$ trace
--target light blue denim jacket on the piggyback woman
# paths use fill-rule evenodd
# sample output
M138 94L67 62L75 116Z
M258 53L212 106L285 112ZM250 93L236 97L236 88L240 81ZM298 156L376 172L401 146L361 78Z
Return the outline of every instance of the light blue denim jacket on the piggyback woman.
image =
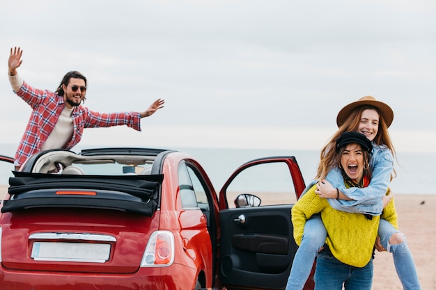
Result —
M372 216L379 216L383 211L382 197L387 193L389 184L391 182L391 172L394 169L394 157L391 150L386 146L379 146L373 143L373 153L371 158L370 168L372 170L371 182L366 188L346 188L341 170L334 168L327 174L328 182L333 187L338 188L348 198L353 200L336 200L329 198L329 204L339 211L346 211L349 213L357 214L371 214ZM313 180L306 189L311 188L316 184L317 180Z

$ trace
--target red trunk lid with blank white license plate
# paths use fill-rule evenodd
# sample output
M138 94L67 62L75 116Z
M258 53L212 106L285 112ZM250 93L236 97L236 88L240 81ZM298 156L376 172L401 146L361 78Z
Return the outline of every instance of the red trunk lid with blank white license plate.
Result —
M2 264L15 270L134 273L158 228L158 214L68 208L6 213Z

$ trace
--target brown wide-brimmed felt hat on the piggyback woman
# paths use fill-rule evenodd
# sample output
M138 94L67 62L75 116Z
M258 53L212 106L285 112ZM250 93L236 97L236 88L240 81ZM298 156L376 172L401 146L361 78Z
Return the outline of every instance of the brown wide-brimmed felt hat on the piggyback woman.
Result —
M384 122L386 122L387 127L391 126L392 121L394 120L394 111L392 111L391 107L383 102L377 101L375 97L365 96L361 97L356 102L352 102L347 106L344 106L341 111L339 111L338 116L336 117L336 124L338 127L341 127L343 122L347 120L348 116L351 114L355 108L359 106L369 105L373 106L380 111L383 116Z

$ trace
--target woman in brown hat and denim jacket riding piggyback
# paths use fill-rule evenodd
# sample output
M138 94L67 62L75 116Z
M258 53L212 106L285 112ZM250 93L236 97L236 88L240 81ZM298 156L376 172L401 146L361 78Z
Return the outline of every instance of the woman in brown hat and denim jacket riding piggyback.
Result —
M320 198L327 198L335 209L379 216L392 196L389 194L389 184L391 175L395 172L395 150L387 129L393 120L394 112L392 109L371 96L362 97L357 102L344 106L336 118L338 131L322 148L316 179L306 187L304 192L316 184L315 193ZM326 159L332 160L331 157L335 154L336 139L347 131L360 132L372 141L372 159L369 164L372 179L366 188L346 188L343 184L341 168L336 168L334 164L325 162ZM388 250L392 253L403 288L405 290L421 289L405 235L387 220L382 219L380 220L378 236L375 247L379 251ZM325 239L326 232L322 220L319 216L313 216L306 222L302 243L295 255L286 290L303 289L311 272L311 261L315 259L325 243Z

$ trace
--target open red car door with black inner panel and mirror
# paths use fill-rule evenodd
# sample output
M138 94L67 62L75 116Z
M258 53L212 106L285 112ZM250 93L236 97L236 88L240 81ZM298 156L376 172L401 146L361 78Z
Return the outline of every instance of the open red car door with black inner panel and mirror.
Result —
M293 156L249 161L224 184L219 276L228 290L286 287L297 251L290 214L304 187Z

